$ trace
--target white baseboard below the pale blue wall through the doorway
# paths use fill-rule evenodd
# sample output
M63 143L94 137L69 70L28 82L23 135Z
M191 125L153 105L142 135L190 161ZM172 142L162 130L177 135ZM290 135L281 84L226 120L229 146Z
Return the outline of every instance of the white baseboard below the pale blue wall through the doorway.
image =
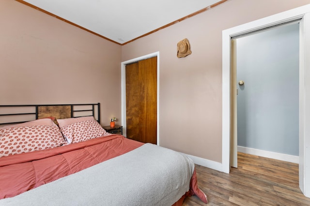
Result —
M243 152L243 153L251 154L251 155L257 155L257 156L266 157L266 158L272 158L272 159L286 161L286 162L293 162L297 164L299 163L299 156L294 156L294 155L281 154L277 152L270 152L270 151L264 151L260 149L241 147L241 146L238 146L238 152Z

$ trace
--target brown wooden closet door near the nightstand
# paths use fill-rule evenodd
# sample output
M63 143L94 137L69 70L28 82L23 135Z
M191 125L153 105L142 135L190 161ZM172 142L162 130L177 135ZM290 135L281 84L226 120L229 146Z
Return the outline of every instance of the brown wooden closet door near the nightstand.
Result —
M125 70L127 138L157 144L157 57Z

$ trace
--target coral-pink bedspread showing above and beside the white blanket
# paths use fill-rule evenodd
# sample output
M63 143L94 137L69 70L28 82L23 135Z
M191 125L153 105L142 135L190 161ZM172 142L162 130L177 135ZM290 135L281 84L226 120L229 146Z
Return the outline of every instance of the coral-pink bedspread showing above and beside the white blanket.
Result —
M14 197L127 153L141 145L143 143L112 134L72 145L2 157L0 199ZM207 203L204 193L197 187L196 171L191 180L190 191L185 196L193 194ZM184 197L178 203L183 202Z

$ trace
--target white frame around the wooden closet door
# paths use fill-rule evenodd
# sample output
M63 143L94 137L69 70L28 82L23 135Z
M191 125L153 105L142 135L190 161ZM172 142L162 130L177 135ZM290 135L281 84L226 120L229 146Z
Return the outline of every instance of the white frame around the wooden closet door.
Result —
M123 125L123 135L127 136L127 124L126 124L126 75L125 68L126 64L131 64L143 59L149 59L152 57L157 57L157 145L159 145L159 51L151 54L147 54L135 59L130 59L121 62L121 88L122 88L122 125Z

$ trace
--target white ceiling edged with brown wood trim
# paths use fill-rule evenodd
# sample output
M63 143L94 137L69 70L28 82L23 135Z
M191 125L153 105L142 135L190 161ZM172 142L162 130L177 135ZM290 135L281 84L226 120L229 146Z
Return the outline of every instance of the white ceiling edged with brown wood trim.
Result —
M125 44L223 0L23 1L118 44Z

